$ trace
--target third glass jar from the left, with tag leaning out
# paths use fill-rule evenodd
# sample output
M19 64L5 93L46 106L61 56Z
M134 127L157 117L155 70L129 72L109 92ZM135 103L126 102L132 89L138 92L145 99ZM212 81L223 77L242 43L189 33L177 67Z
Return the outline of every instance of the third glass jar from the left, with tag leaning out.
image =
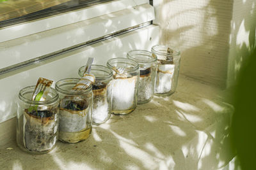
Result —
M80 67L78 74L83 77L85 66ZM106 66L92 65L91 72L95 76L95 83L92 85L93 110L92 124L103 124L111 115L111 80L113 80L112 70Z

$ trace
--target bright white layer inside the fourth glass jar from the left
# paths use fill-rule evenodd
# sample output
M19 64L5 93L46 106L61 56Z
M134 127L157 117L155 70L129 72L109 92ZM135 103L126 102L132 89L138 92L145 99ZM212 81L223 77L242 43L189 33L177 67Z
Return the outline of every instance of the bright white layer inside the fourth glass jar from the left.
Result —
M112 110L129 110L134 106L134 91L136 76L132 78L113 80L113 108Z

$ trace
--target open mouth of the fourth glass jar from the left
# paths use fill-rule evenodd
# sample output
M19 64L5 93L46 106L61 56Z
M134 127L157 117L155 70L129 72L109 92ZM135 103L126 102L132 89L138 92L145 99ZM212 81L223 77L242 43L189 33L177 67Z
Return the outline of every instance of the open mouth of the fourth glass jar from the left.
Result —
M109 59L107 62L107 66L110 68L116 67L115 65L117 64L124 64L122 68L124 68L126 72L133 72L139 69L138 62L127 58L113 58ZM126 66L127 64L131 65L132 67Z

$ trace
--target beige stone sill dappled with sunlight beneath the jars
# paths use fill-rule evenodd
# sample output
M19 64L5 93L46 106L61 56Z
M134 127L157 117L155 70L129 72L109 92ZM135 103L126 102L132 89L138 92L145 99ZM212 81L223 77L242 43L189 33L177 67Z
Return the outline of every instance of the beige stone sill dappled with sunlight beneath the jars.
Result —
M93 126L86 141L43 155L0 145L1 169L222 169L230 152L232 106L223 91L180 76L177 92ZM3 140L3 139L2 139Z

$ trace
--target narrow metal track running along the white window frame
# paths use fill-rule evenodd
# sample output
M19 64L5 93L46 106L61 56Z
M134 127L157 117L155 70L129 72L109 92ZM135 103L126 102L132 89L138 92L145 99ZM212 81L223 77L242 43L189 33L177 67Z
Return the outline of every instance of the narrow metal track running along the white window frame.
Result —
M104 40L107 40L107 39L110 39L110 38L113 38L113 37L116 37L116 36L120 36L120 35L125 34L127 32L131 32L131 31L135 31L137 29L143 28L143 27L147 27L148 25L151 25L151 24L152 24L152 21L145 22L143 24L136 25L134 27L129 27L127 29L117 31L117 32L114 32L112 34L102 36L100 38L95 38L95 39L92 39L90 41L80 43L78 45L70 46L69 48L65 48L65 49L62 49L62 50L58 50L56 52L48 53L46 55L42 55L42 56L36 57L34 59L26 60L24 62L20 62L19 64L14 64L12 66L4 67L4 68L0 69L0 76L4 75L6 73L10 73L12 71L17 71L17 70L22 69L24 67L31 66L33 64L38 64L39 62L42 62L42 61L45 61L45 60L56 58L59 55L63 55L65 53L73 52L74 50L79 50L80 48L84 48L86 46L93 45L95 43L99 43L100 41L104 41Z

